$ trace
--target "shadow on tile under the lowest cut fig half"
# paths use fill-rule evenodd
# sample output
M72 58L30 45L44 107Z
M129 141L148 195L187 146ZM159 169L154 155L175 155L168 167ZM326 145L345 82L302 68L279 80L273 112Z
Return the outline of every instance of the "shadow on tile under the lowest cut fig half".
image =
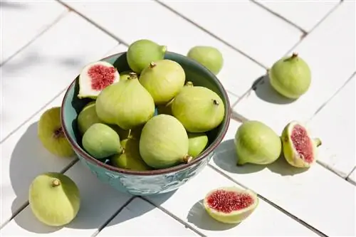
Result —
M189 210L187 215L188 223L192 223L194 226L208 231L226 231L230 228L239 226L239 223L228 224L214 220L214 218L206 213L203 201L203 199L197 201Z

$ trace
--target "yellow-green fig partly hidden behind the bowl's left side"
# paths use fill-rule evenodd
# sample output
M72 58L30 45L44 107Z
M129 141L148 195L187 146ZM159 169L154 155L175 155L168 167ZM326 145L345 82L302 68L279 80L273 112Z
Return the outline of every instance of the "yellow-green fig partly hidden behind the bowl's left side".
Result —
M38 139L48 152L58 157L72 157L74 155L68 139L64 135L61 124L61 107L51 107L43 112L38 121Z

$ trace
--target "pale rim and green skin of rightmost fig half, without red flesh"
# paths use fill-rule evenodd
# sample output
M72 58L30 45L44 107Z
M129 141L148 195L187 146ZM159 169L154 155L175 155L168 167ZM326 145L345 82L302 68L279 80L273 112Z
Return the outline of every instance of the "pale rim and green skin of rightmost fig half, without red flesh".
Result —
M298 154L298 152L295 150L295 147L293 145L292 139L290 139L290 136L293 132L293 128L295 125L300 125L305 129L305 132L307 132L308 137L310 138L310 142L312 143L312 153L313 153L313 162L305 162L302 157ZM296 168L310 168L315 162L316 162L316 157L318 156L318 147L322 144L321 140L319 138L312 139L310 137L309 131L306 129L305 125L303 125L301 122L298 121L291 121L289 122L286 127L284 127L282 135L281 135L281 140L283 143L283 156L288 162L293 167Z

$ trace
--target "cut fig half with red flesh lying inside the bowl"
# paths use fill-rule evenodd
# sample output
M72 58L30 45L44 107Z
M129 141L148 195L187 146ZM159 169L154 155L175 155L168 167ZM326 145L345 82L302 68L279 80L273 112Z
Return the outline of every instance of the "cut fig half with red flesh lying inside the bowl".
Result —
M78 98L96 99L104 88L119 80L120 75L111 63L105 61L90 63L79 75Z

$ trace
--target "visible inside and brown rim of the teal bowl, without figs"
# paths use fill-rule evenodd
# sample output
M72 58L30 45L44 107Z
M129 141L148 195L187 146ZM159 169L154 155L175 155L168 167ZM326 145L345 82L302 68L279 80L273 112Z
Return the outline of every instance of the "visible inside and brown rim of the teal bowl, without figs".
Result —
M205 151L202 152L196 159L194 159L189 164L180 164L176 167L152 170L147 172L127 171L126 169L111 167L110 162L108 160L106 160L104 163L91 157L88 153L85 152L84 149L81 148L82 137L80 135L80 132L78 131L77 115L83 109L83 107L87 105L88 102L93 101L93 99L90 98L79 99L77 97L79 91L79 84L78 84L78 77L77 77L68 88L67 93L63 99L62 115L61 115L63 130L65 131L66 136L68 137L70 143L73 145L75 152L85 157L85 159L89 159L91 162L94 162L99 165L103 164L103 167L116 172L124 172L124 173L131 173L131 174L135 174L135 173L162 174L164 172L170 172L172 171L172 169L175 170L184 169L184 167L199 162L199 160L204 159L204 157L206 157L206 154L212 152L212 150L217 145L219 145L221 139L223 139L224 135L226 134L227 127L229 127L229 119L231 115L229 98L223 86L221 85L221 83L219 83L219 80L216 79L213 73L211 73L209 70L204 68L204 66L197 63L194 60L179 55L178 53L172 53L172 52L167 52L164 58L174 60L180 65L182 65L182 68L184 69L184 72L186 74L186 82L189 80L192 81L192 83L196 86L204 86L206 88L209 88L210 90L213 90L221 97L221 100L223 100L224 102L224 106L225 106L224 121L221 122L221 125L219 125L219 127L216 127L214 130L206 132L207 136L209 137L209 145L206 147ZM117 68L119 73L122 73L126 70L130 70L130 67L127 64L127 60L126 60L126 53L118 53L113 56L109 56L108 58L103 58L103 60L112 63L112 65L114 65L115 68Z

